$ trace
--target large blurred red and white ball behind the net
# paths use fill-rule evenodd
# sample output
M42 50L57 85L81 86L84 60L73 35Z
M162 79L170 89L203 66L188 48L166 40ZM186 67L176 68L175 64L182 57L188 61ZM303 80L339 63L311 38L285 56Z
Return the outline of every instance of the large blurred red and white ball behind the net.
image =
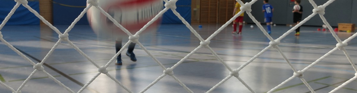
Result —
M112 16L120 25L135 34L163 9L162 0L98 0L105 12ZM88 21L97 35L127 36L95 7L87 11ZM161 24L161 18L151 24L143 33L156 31Z

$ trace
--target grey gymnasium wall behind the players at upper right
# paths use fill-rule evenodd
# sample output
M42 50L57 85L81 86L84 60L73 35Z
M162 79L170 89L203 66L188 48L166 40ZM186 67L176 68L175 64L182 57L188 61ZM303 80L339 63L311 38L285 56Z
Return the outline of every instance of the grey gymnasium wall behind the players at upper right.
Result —
M251 0L245 0L245 2L250 2ZM319 6L325 4L328 0L314 0ZM273 23L274 24L293 24L292 22L292 8L293 2L290 4L290 0L269 0L274 8L273 12ZM261 23L264 23L264 13L262 13L263 0L258 0L252 5L252 15ZM312 14L312 5L308 0L301 0L301 5L303 6L303 17L305 19L307 16ZM357 24L357 0L336 0L332 4L325 8L325 18L330 23L331 26L338 26L338 23L354 23ZM253 21L245 16L244 20L247 23L253 23ZM315 15L309 21L303 25L310 26L322 26L323 22L319 15Z

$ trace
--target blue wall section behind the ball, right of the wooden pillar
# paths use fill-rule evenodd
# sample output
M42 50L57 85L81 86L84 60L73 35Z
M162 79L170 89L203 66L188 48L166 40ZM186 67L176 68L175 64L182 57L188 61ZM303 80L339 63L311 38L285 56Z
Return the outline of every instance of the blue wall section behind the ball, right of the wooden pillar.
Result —
M86 6L86 0L53 0L53 21L55 25L69 25ZM164 6L164 5L162 5ZM178 0L176 11L185 20L191 22L191 0ZM162 24L182 24L182 21L169 9L162 15ZM87 16L84 15L77 24L89 24Z

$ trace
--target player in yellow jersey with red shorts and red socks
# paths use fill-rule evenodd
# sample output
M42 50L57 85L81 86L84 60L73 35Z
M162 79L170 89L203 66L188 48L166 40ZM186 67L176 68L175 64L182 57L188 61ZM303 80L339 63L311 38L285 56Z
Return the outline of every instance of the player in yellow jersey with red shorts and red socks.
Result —
M241 0L243 1L243 0ZM241 11L240 9L241 5L236 2L236 5L234 7L234 11L233 11L233 16L238 14L239 11ZM242 28L243 28L243 16L244 13L242 13L241 15L239 15L234 21L233 21L233 32L232 34L236 34L237 33L237 23L239 23L239 31L238 34L242 34Z

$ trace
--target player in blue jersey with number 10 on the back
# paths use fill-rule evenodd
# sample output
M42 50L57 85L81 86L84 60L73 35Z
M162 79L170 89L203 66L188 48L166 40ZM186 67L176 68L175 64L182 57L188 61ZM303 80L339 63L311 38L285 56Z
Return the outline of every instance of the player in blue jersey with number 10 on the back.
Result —
M270 23L271 23L271 17L273 16L273 11L274 11L274 8L273 6L271 6L270 4L268 4L269 0L264 0L263 3L263 12L264 12L264 21L265 23L267 23L267 28L268 28L268 34L271 33L271 30L270 30Z

